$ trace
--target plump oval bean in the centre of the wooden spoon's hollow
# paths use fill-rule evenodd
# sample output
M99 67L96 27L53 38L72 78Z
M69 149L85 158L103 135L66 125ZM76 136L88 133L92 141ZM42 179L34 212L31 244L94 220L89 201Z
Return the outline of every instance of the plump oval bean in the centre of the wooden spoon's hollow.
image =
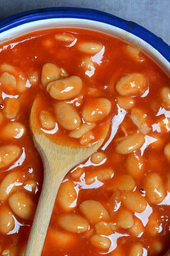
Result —
M55 110L58 122L63 128L74 130L80 126L81 118L72 105L61 101L56 104Z

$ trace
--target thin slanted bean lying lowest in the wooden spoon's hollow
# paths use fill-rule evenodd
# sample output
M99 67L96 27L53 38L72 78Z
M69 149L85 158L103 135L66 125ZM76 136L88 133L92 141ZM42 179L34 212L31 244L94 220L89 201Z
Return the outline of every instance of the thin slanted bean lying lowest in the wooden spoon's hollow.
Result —
M69 133L69 136L71 138L81 138L83 135L85 135L86 132L89 132L96 126L95 123L82 123L79 128L76 130L73 130Z

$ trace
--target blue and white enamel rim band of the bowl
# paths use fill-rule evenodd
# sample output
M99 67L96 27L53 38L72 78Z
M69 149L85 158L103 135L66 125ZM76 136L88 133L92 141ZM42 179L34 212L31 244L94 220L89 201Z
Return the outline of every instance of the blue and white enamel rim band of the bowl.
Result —
M134 22L92 9L61 7L16 14L1 21L0 40L8 41L33 31L55 27L86 28L124 39L170 74L170 46L162 39Z

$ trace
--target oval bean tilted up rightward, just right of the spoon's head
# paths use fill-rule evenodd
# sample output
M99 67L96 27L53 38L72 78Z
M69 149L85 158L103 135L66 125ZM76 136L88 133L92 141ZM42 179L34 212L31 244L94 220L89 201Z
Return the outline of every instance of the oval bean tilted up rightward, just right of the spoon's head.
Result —
M144 141L145 139L142 133L134 133L124 137L124 140L118 144L117 150L121 154L130 154L133 151L141 148L144 144Z

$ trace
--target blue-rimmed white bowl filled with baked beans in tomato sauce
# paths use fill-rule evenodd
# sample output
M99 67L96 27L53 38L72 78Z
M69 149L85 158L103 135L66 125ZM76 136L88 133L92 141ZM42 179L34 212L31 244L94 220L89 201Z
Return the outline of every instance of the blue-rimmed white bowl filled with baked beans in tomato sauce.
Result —
M35 227L46 233L42 256L166 254L170 47L136 23L83 8L20 13L0 32L0 255L24 256L47 196L30 120L80 150L109 126L101 148L51 188L49 227Z

